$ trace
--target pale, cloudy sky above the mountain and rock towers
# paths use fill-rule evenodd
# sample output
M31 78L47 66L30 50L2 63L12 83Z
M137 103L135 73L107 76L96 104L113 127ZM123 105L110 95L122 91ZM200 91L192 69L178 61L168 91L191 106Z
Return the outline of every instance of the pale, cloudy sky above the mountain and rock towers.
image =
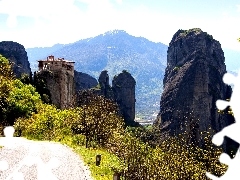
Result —
M239 0L0 0L0 41L50 47L125 30L169 45L178 29L201 28L240 51Z

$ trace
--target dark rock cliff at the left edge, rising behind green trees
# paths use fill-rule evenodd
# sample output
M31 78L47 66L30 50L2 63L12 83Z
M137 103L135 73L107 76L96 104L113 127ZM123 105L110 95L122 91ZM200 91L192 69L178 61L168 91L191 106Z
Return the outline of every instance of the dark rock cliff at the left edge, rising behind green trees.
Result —
M23 73L31 74L27 52L23 45L12 41L2 41L0 42L0 54L13 63L13 72L17 78Z

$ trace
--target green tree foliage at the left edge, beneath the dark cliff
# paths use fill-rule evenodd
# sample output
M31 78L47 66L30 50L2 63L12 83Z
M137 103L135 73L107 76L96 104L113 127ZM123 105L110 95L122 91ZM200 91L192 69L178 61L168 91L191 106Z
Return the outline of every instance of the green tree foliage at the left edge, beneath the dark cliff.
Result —
M40 102L36 89L16 79L11 63L0 55L0 124L13 125L17 118L30 116Z

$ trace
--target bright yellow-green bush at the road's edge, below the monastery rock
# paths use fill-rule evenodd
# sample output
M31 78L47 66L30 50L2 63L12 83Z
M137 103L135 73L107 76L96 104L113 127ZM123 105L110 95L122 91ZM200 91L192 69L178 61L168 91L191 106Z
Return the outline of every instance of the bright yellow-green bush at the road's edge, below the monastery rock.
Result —
M68 118L74 116L71 110L60 111L47 104L39 104L37 112L29 118L20 118L15 123L16 133L38 140L60 140L71 134Z

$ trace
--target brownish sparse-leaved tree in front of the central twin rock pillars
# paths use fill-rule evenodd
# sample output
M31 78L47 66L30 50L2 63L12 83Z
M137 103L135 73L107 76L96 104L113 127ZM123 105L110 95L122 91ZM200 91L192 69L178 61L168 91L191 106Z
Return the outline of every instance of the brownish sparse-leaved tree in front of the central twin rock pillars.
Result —
M124 120L118 115L115 102L91 90L83 90L78 95L76 105L79 116L72 128L75 134L86 136L86 147L90 142L104 145L114 131L124 130Z

